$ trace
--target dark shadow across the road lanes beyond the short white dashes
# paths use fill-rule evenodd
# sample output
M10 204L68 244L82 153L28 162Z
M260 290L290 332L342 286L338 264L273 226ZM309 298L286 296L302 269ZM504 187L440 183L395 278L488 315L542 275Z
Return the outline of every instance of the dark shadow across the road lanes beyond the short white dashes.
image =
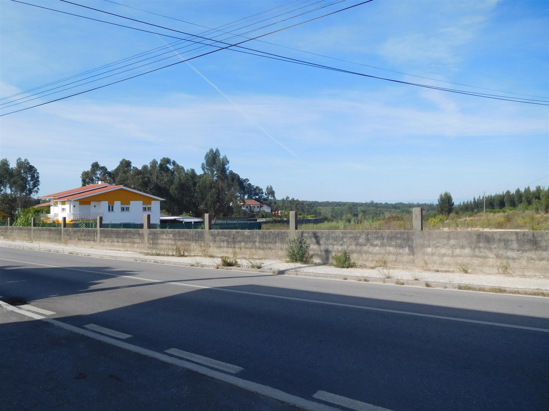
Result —
M549 403L547 333L340 304L539 328L549 328L546 318L254 283L275 275L157 282L119 276L146 275L119 267L6 265L0 294L29 304L53 301L60 312L75 313L53 316L59 321L111 328L159 352L177 348L236 364L242 378L309 399L326 390L397 411L534 410ZM247 283L184 286L231 279ZM16 335L23 320L0 324L0 334Z

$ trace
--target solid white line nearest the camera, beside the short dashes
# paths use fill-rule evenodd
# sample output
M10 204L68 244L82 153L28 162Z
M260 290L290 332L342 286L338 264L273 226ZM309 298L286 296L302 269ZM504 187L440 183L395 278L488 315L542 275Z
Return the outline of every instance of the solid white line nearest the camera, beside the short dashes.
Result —
M170 357L169 355L163 354L161 352L148 350L146 348L139 347L137 345L126 343L125 341L116 340L114 338L110 338L102 334L97 334L83 328L71 326L70 324L66 324L64 322L58 321L57 319L43 317L40 314L35 314L33 312L29 312L25 310L19 310L17 307L13 307L4 301L0 301L0 306L4 307L5 309L15 311L35 319L41 319L42 321L53 324L56 327L61 327L71 332L82 334L98 341L103 341L103 343L111 344L128 351L136 352L138 354L141 354L147 357L158 359L168 364L173 364L174 366L177 366L177 367L191 370L198 374L209 376L216 380L223 381L224 383L234 385L236 387L242 388L247 391L255 392L265 397L277 399L278 401L288 403L292 406L295 406L301 409L305 409L309 411L341 411L338 408L334 408L334 407L327 406L326 404L310 401L309 399L301 398L301 397L289 394L287 392L277 390L276 388L269 387L267 385L257 384L257 383L254 383L253 381L244 380L234 375L225 374L220 371L212 370L211 368L199 366L198 364L195 364L192 362L183 361L182 359Z

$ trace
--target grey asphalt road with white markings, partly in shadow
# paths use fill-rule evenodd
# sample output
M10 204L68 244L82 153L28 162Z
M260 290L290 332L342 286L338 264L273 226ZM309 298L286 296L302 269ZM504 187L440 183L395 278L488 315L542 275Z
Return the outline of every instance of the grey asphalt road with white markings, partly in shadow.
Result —
M318 409L549 406L545 298L10 248L0 295L60 322L0 307L7 409L292 409L269 392Z

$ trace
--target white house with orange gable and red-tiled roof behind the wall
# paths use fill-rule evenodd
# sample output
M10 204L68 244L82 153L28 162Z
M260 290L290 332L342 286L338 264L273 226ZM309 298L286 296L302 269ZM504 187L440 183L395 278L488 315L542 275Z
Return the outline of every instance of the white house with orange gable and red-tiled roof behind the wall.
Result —
M103 217L103 224L142 224L143 215L150 214L151 222L160 220L160 202L155 197L121 185L110 185L103 181L78 189L61 191L39 197L50 202L48 218L60 222L95 220Z

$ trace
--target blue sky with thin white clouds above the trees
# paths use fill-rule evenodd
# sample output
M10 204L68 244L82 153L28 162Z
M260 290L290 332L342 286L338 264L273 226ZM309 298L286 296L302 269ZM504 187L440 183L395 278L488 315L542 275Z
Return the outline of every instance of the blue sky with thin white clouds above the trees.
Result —
M155 31L59 1L29 3ZM105 1L80 3L189 33L204 30ZM208 27L283 4L120 3ZM324 10L355 3L348 0ZM390 70L547 96L548 18L545 1L375 0L263 39ZM9 1L0 2L0 24L2 96L165 44L150 33ZM246 45L446 87L270 44ZM182 63L1 117L0 155L11 162L26 157L36 165L42 194L78 186L82 170L93 161L110 169L124 157L141 167L167 156L199 170L210 147L219 147L231 168L254 184L272 185L277 197L300 199L429 201L449 190L461 201L483 190L516 189L549 174L549 110L544 106L445 93L229 50L191 64L209 82ZM549 178L536 184L547 186Z

